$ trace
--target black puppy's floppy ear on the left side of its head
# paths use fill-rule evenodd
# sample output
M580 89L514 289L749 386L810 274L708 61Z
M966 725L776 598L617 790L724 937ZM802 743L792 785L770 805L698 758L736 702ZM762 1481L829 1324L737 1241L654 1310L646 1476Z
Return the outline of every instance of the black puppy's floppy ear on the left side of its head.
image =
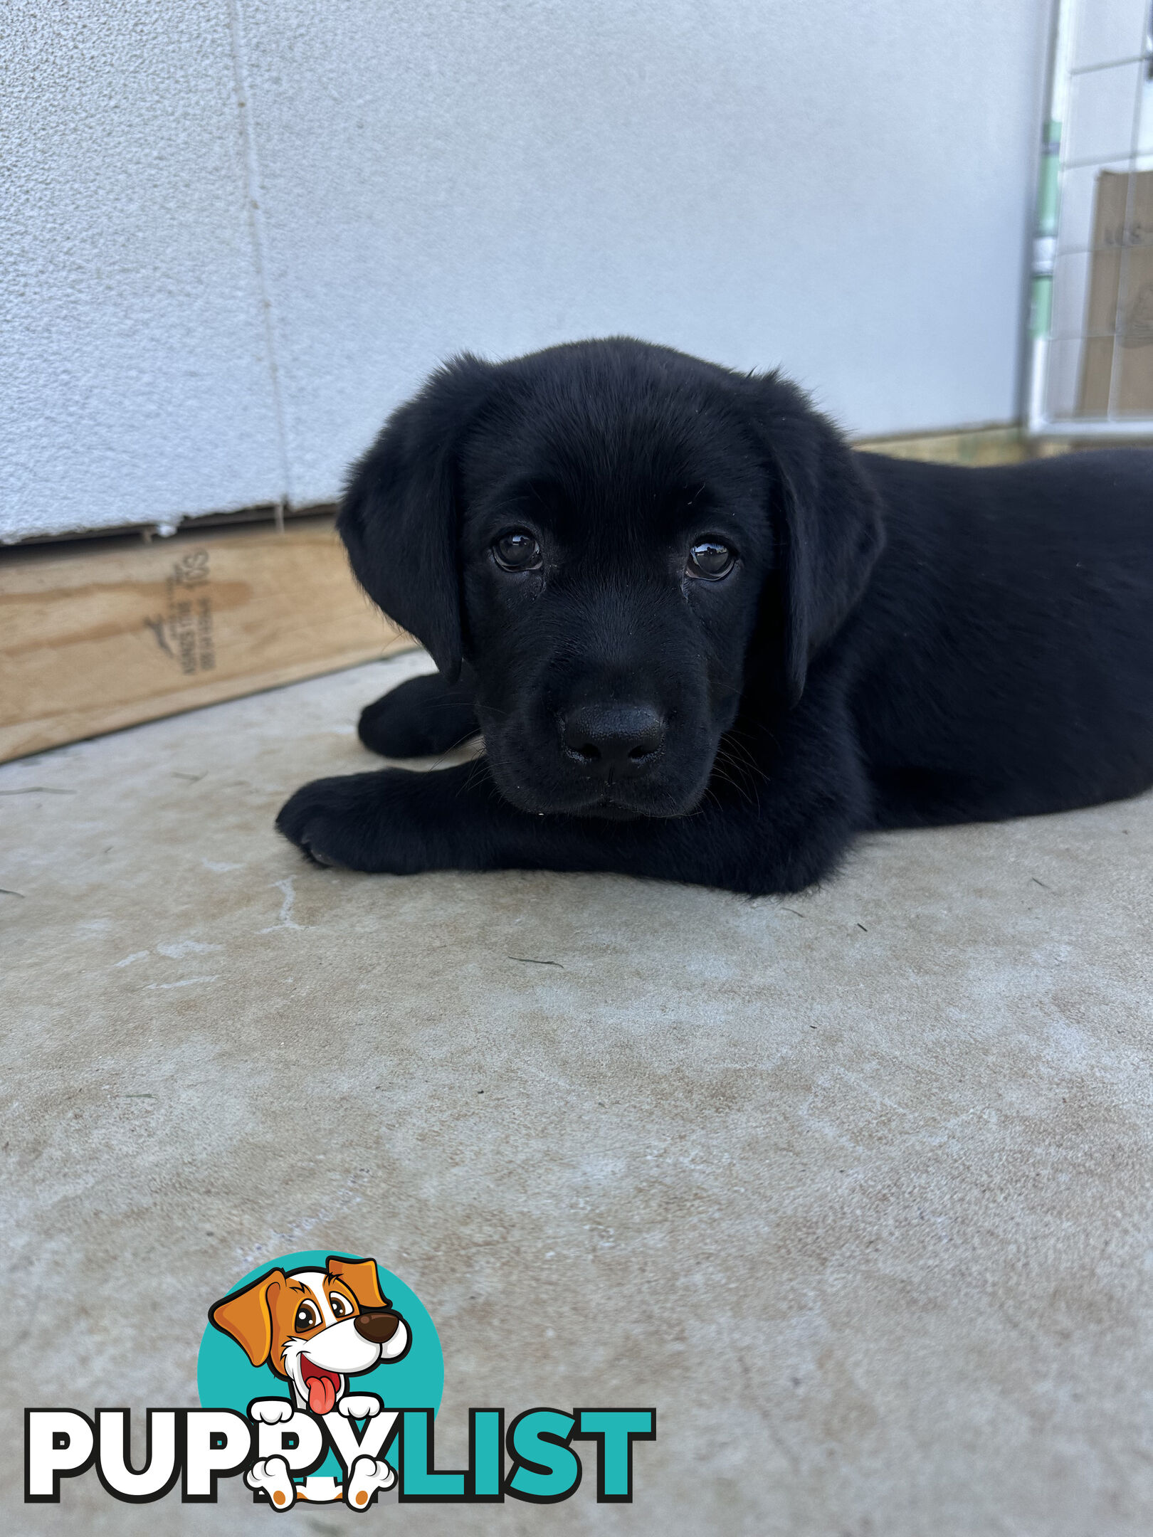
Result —
M438 369L354 466L337 520L357 581L449 682L461 664L457 450L492 375L469 354Z

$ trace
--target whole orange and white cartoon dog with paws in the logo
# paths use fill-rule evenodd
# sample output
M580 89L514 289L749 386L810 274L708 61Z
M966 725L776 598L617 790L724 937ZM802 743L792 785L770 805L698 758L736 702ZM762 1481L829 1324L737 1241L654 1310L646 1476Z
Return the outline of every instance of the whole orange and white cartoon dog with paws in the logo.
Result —
M318 1419L341 1414L372 1419L383 1405L375 1393L349 1393L349 1377L397 1362L412 1343L412 1333L381 1294L377 1262L331 1254L324 1270L267 1271L209 1308L209 1320L229 1334L254 1366L269 1366L291 1388L291 1399L257 1399L254 1420L277 1425L307 1409ZM367 1466L370 1463L370 1466ZM364 1465L364 1466L361 1466ZM357 1459L349 1480L349 1503L363 1506L366 1489L386 1489L395 1474L386 1462ZM332 1480L309 1479L292 1485L280 1457L255 1463L249 1488L263 1488L278 1509L303 1499L340 1499ZM326 1488L309 1489L309 1485ZM355 1486L355 1492L354 1492Z

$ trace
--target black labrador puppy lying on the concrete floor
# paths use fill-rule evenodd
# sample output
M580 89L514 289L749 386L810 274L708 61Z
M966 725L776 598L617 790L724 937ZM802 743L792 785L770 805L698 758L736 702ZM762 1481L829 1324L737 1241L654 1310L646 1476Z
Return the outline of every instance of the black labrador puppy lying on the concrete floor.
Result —
M1153 782L1150 450L856 453L776 373L587 341L435 373L340 532L440 669L361 739L484 756L304 785L320 864L793 891L862 828Z

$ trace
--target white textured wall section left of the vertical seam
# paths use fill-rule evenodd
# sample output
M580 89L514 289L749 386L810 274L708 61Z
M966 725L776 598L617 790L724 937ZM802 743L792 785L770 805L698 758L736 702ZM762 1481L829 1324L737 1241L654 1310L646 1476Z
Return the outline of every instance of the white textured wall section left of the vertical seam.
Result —
M0 6L0 533L277 495L226 3Z

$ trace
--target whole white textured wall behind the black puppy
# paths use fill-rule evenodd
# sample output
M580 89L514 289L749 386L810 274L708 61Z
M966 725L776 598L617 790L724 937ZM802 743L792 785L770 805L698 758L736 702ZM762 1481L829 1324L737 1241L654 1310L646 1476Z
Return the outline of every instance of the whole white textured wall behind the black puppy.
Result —
M627 330L856 430L1008 418L1045 17L8 0L0 533L327 498L460 347Z

